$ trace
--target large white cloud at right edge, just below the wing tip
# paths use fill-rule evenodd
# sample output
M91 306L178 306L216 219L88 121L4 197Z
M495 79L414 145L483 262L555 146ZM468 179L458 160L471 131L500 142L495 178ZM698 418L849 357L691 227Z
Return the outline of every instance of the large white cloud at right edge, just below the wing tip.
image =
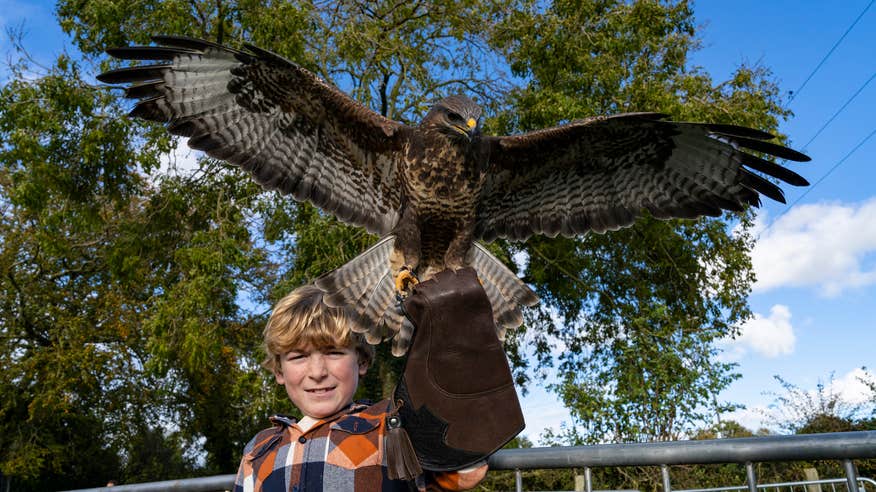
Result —
M754 292L815 287L825 296L876 283L876 198L857 204L799 205L768 227L751 252Z

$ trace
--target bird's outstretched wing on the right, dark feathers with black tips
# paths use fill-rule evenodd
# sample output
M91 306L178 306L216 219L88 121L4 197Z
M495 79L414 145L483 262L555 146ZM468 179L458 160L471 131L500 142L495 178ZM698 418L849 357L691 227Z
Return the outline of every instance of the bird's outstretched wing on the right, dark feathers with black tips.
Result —
M784 203L781 188L752 172L805 186L798 174L743 149L793 161L809 157L733 125L661 121L658 113L597 117L518 136L486 137L490 173L475 235L523 240L628 226L658 218L717 216Z

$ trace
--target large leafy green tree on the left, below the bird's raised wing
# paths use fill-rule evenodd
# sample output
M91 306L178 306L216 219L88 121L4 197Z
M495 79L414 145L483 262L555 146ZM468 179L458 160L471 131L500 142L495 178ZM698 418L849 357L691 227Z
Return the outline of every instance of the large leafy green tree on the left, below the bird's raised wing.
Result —
M260 329L236 304L266 266L241 212L260 190L225 172L150 181L163 130L66 57L24 68L0 91L0 470L39 490L122 476L143 421L234 467L267 401L235 396L265 393L246 370Z

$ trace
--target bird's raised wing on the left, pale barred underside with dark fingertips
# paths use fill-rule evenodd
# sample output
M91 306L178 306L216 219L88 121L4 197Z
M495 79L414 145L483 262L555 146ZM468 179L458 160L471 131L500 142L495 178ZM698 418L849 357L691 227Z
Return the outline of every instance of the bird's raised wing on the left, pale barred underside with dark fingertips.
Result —
M99 75L131 83L133 116L167 124L189 146L249 171L264 188L386 234L397 220L400 149L409 127L355 102L276 54L155 36L107 52L162 60Z

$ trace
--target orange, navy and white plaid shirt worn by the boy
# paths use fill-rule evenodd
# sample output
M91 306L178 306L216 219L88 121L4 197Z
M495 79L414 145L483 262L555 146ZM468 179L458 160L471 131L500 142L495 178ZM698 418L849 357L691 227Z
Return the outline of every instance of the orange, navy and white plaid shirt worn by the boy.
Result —
M353 404L302 432L296 420L275 415L274 427L246 445L235 492L466 490L487 465L461 472L431 473L416 484L390 480L384 466L389 401Z

